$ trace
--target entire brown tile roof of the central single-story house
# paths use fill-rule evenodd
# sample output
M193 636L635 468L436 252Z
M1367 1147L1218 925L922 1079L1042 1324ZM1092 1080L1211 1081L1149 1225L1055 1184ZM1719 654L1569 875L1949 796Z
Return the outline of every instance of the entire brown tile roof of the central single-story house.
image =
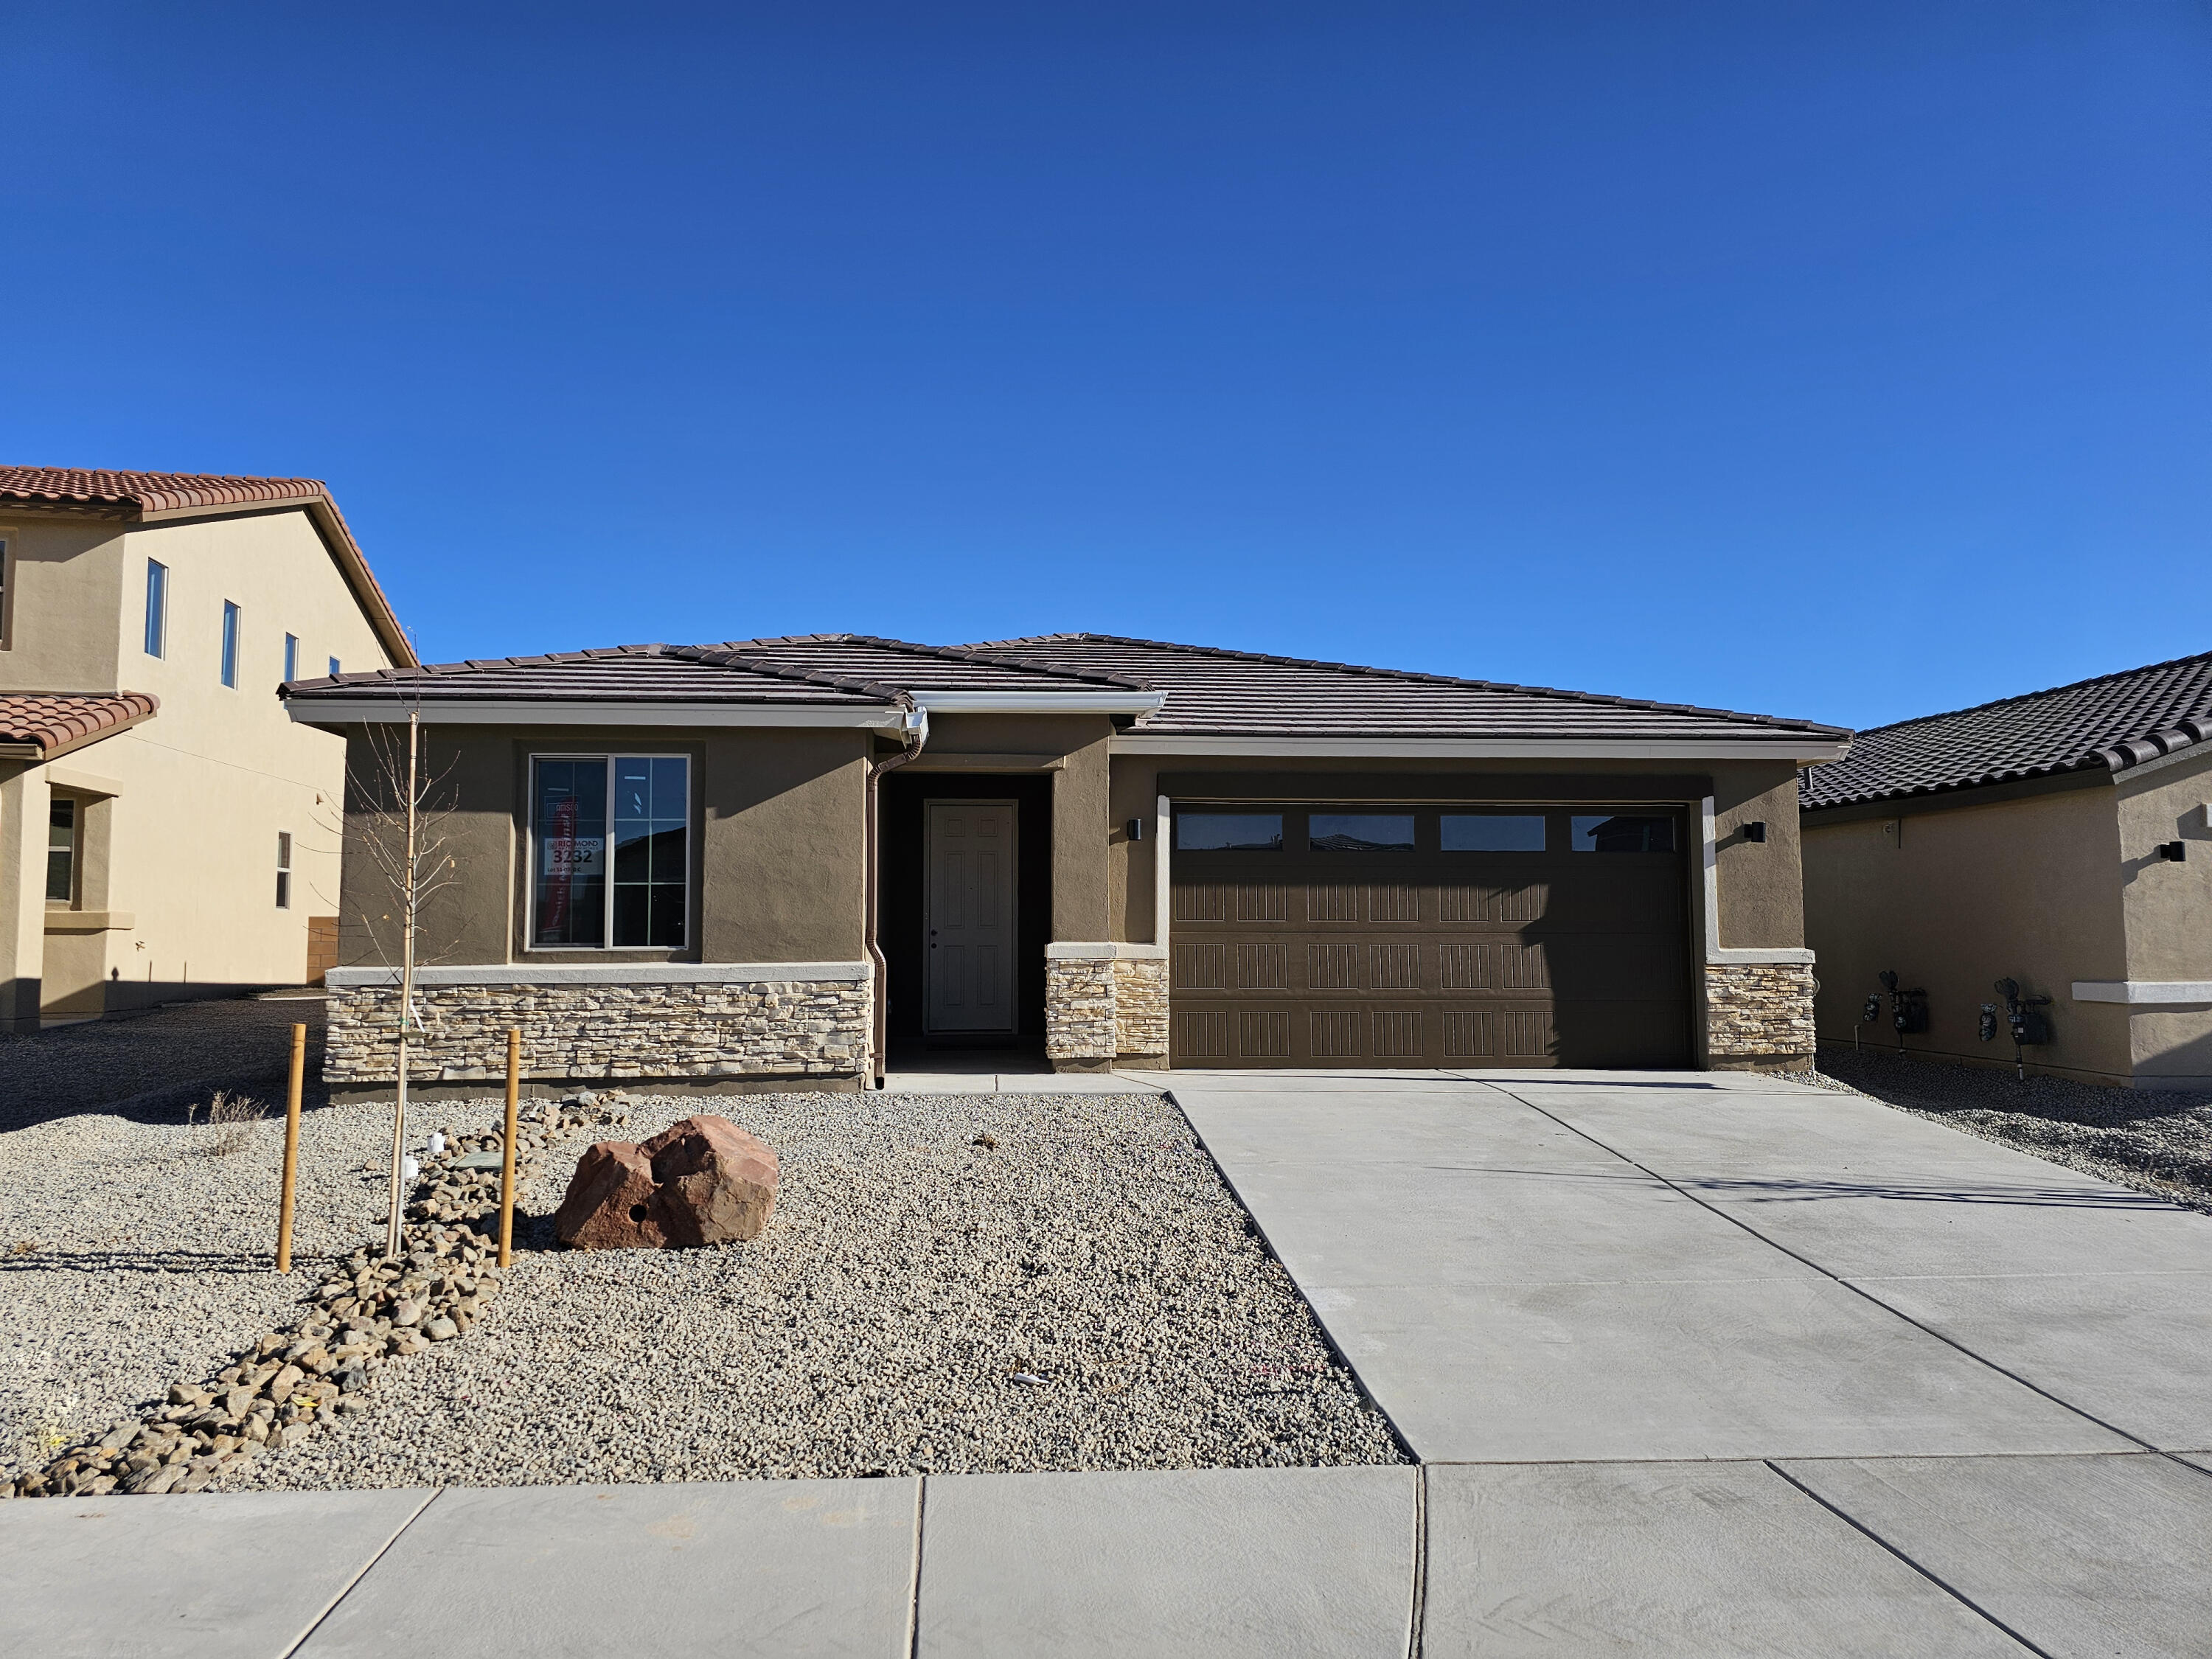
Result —
M1639 703L1528 686L1296 661L1108 635L918 646L874 635L785 635L712 646L617 646L294 681L303 701L394 697L513 701L889 703L918 690L1161 690L1137 732L1190 737L1794 739L1836 726Z

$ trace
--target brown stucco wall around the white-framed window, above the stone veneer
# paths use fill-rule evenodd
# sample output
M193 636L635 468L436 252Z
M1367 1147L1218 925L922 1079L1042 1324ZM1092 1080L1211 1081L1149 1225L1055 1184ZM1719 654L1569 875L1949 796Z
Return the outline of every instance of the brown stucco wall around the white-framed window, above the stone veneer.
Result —
M338 962L398 962L392 894L367 856L369 807L385 787L378 737L347 734L349 799ZM385 743L392 739L385 737ZM400 754L400 739L394 754ZM863 956L863 799L869 734L860 730L495 728L434 726L431 807L458 878L425 905L427 962L854 962ZM533 752L684 752L692 757L701 834L692 849L692 936L684 951L526 951L524 827Z

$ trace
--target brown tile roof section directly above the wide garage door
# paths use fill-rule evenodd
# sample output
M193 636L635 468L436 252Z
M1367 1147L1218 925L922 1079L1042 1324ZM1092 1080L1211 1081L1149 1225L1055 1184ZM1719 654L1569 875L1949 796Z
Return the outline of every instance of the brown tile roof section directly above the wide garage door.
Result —
M1150 734L1192 737L1606 737L1710 739L1807 737L1834 743L1840 726L1739 714L1690 703L1506 686L1405 668L1267 657L1219 646L1066 633L993 639L975 650L1037 668L1110 672L1168 703L1144 721Z

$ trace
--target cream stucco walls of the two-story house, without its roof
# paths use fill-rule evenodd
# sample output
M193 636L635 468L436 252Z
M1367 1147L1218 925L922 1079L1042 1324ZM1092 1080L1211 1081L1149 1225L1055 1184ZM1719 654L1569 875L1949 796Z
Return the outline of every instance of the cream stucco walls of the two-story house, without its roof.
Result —
M276 699L283 635L301 672L387 664L301 511L122 524L11 522L20 593L0 677L15 690L139 690L155 719L53 761L86 810L80 911L44 936L49 1013L97 1013L226 984L299 984L307 918L336 914L345 748ZM166 653L144 650L146 560L168 566ZM223 602L241 606L239 684L221 684ZM73 781L75 779L75 781ZM276 836L292 902L276 907ZM124 984L117 987L115 980Z

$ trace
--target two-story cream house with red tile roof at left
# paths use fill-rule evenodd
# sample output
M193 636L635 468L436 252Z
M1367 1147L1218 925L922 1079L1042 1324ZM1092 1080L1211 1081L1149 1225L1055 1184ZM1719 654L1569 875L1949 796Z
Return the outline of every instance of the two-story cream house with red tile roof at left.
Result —
M276 686L414 664L312 478L0 467L0 1029L314 978L345 743Z

